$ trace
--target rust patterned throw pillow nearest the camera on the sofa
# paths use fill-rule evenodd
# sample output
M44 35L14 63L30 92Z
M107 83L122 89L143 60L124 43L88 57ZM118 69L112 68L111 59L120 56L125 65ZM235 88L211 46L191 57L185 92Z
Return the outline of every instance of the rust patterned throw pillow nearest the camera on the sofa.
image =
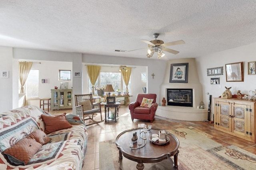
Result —
M35 139L25 137L2 153L8 157L10 162L16 165L26 165L41 147L42 145Z

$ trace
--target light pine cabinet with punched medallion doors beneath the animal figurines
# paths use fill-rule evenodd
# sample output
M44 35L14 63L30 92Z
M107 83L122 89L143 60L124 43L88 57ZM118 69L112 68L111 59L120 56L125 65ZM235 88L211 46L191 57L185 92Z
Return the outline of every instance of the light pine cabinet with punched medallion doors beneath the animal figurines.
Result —
M214 98L214 129L256 143L256 102Z

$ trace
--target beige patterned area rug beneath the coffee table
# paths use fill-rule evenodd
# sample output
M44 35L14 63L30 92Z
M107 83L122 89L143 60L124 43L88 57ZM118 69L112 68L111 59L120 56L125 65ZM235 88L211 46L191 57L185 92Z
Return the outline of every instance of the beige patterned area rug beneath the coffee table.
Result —
M213 141L212 136L193 127L169 132L180 141L179 170L253 170L256 167L255 154L233 145L224 147ZM99 143L99 156L100 170L119 169L118 149L114 140Z

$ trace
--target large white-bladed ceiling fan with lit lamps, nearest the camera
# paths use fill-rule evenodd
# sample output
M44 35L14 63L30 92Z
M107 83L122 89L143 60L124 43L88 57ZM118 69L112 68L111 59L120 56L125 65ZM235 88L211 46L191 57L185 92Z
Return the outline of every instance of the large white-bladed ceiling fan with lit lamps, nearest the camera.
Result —
M152 41L140 40L148 44L148 54L147 54L148 58L152 57L155 52L157 53L158 59L164 57L165 53L163 51L166 51L172 54L178 54L180 53L179 51L168 49L166 48L166 46L185 44L183 40L164 43L164 41L156 39L159 36L159 33L154 33L153 35L155 39ZM136 50L139 50L139 49L136 49ZM135 51L135 50L130 50L130 51Z

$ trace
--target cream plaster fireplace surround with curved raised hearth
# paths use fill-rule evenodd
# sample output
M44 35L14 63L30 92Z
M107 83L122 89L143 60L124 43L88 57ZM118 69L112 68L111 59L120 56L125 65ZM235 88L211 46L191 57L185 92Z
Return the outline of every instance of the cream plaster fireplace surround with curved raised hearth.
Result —
M170 83L171 64L188 63L188 83ZM193 107L183 106L159 106L156 115L169 119L186 121L204 121L208 118L208 109L197 109L196 107L203 100L202 84L199 81L196 62L194 58L169 60L164 80L160 86L159 101L167 99L168 88L191 88L193 89ZM207 104L205 104L207 106Z

